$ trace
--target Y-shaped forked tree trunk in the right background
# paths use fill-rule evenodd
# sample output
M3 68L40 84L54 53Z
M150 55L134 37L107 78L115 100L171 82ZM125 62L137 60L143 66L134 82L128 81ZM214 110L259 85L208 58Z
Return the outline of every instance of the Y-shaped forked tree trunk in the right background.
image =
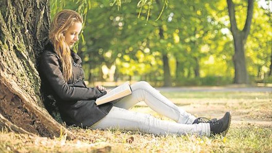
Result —
M249 35L250 25L253 15L254 0L248 0L247 18L244 25L244 29L241 31L237 28L234 3L232 0L227 0L228 13L231 23L231 32L234 40L235 53L233 56L235 77L234 83L249 83L249 77L246 70L244 45Z

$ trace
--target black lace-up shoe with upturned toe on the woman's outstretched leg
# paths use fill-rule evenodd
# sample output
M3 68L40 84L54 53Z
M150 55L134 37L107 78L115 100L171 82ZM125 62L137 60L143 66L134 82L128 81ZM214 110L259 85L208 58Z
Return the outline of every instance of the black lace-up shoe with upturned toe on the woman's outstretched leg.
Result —
M231 113L226 112L224 117L222 117L221 119L210 122L210 133L213 135L223 134L223 136L225 136L230 127L231 119Z

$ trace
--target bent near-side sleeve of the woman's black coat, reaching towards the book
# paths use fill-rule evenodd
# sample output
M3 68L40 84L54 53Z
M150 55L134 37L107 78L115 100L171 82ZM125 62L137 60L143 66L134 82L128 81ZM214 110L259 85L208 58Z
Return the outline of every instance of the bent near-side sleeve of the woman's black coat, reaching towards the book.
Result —
M96 87L70 87L64 80L57 55L45 51L40 57L40 71L50 83L53 90L62 100L90 100L101 97L107 92Z

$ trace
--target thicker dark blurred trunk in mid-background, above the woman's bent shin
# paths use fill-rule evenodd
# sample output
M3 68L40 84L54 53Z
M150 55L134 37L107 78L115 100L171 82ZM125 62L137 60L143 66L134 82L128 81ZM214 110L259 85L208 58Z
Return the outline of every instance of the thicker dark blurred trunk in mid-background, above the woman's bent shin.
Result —
M159 36L160 36L160 39L164 39L163 29L161 27L159 27ZM163 52L163 63L164 63L164 86L170 87L172 86L172 80L170 75L167 53L164 53L164 52Z

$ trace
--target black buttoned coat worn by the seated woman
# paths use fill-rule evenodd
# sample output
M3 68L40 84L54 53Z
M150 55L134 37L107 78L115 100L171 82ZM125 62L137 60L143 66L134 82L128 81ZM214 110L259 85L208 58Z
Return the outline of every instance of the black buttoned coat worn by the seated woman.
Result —
M71 51L73 76L66 82L62 75L61 62L53 45L49 42L40 56L39 72L44 90L57 101L62 120L67 125L90 127L105 117L113 107L112 103L97 106L95 100L106 94L96 87L87 87L81 58Z

